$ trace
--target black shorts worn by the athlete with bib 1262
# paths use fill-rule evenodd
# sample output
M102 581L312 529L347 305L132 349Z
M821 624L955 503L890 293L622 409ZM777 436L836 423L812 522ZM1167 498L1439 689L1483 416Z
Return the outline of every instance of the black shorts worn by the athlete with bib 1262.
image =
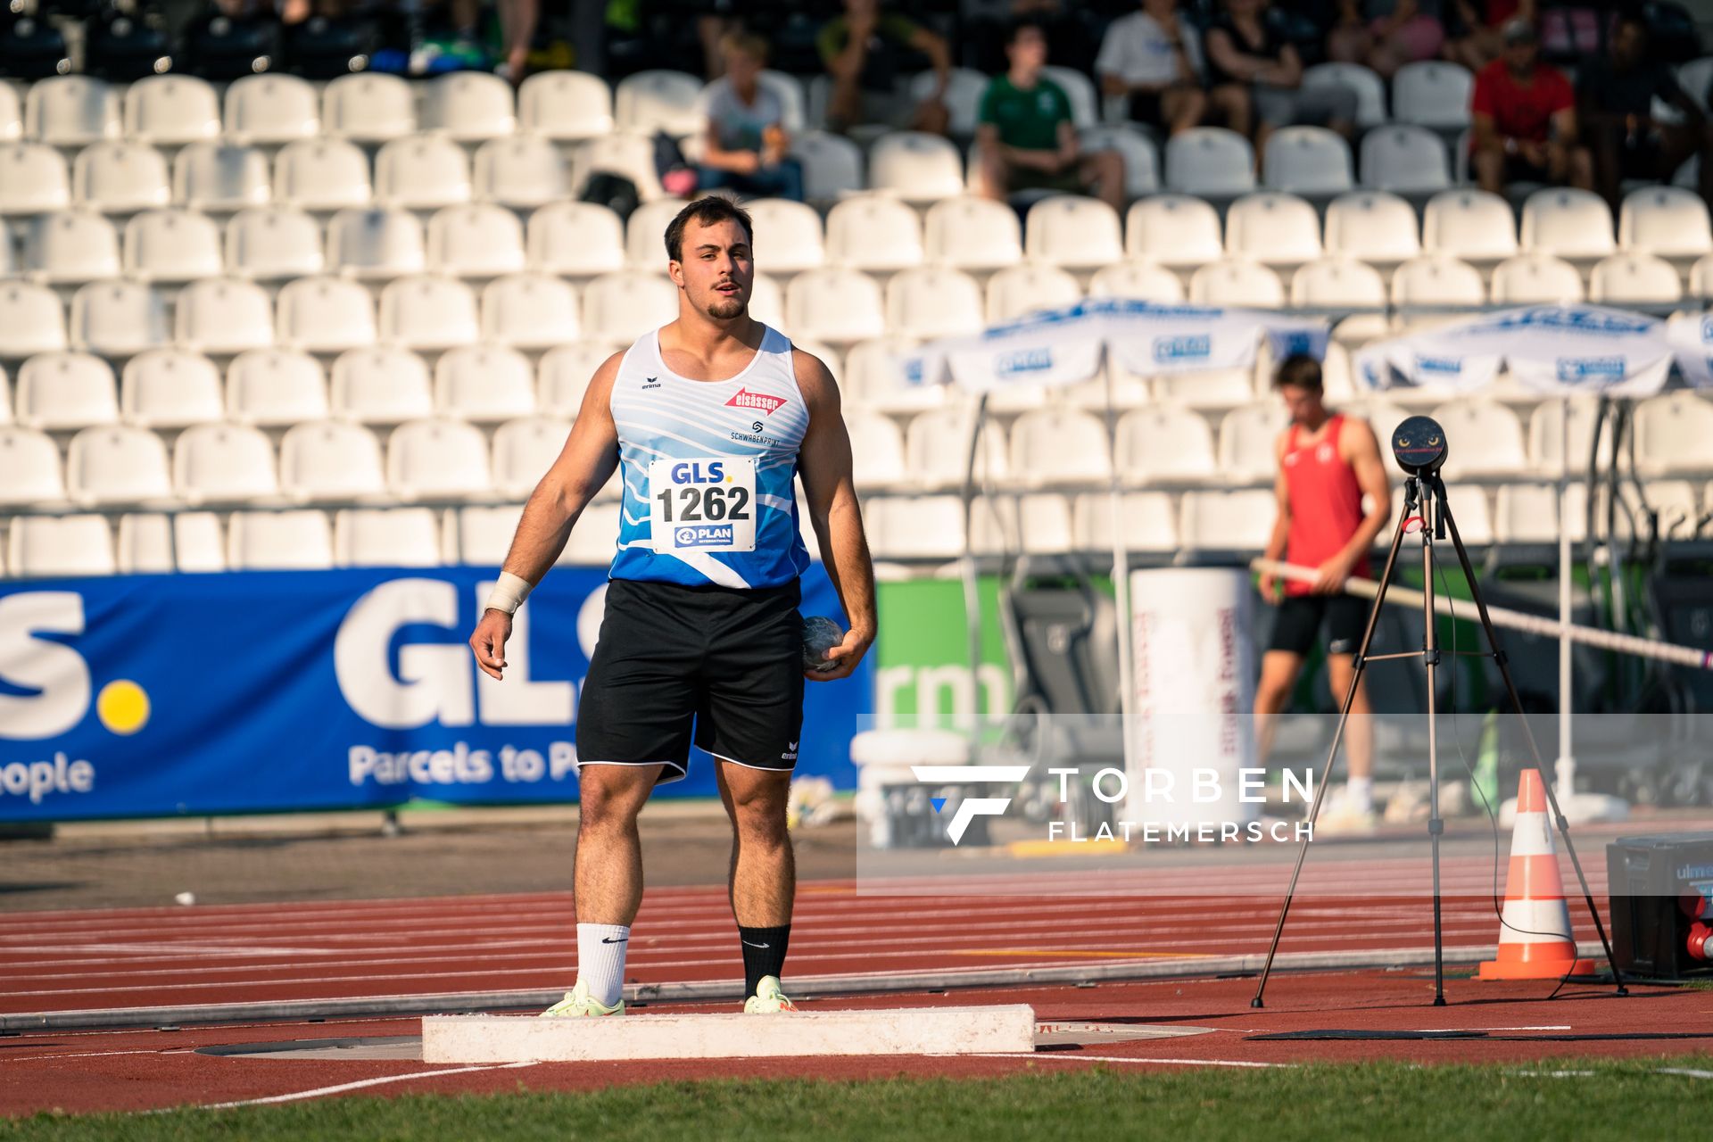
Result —
M690 769L690 741L750 769L790 772L803 728L797 580L685 587L613 579L577 702L581 765Z

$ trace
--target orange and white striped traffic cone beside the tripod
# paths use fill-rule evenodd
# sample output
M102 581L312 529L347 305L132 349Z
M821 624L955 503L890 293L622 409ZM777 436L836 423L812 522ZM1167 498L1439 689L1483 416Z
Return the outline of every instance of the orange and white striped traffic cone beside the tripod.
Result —
M1516 830L1511 834L1511 871L1504 885L1504 923L1499 925L1499 959L1482 964L1482 979L1557 979L1593 971L1576 959L1571 911L1564 906L1564 878L1547 820L1547 789L1538 769L1525 769L1516 791Z

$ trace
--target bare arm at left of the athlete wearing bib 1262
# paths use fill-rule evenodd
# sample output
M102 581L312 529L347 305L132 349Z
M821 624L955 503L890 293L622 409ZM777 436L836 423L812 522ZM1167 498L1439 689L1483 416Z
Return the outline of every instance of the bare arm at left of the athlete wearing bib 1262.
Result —
M615 353L594 370L565 447L529 493L522 519L517 520L517 534L505 553L505 570L528 579L531 587L553 567L553 560L565 550L572 524L618 467L618 430L610 397L622 360L624 353ZM510 635L510 615L493 608L483 611L476 633L469 635L476 666L498 678L505 669L505 640Z

